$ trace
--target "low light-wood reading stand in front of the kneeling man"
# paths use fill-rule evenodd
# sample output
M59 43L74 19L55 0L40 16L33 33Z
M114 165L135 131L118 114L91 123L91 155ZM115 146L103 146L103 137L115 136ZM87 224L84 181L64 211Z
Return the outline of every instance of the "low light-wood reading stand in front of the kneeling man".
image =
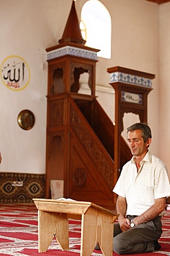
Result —
M90 256L98 243L104 256L113 255L114 220L118 214L90 202L32 199L39 216L39 253L55 237L69 250L69 219L81 219L81 256Z

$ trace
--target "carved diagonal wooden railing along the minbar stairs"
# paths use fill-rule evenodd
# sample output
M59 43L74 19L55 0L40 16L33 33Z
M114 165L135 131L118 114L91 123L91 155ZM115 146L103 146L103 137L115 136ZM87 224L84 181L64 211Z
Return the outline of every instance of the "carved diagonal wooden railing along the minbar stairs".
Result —
M109 188L113 188L114 161L107 154L105 147L103 147L96 134L94 134L92 127L86 122L81 111L78 111L72 98L70 98L70 127L89 157L92 158L98 172L103 175Z

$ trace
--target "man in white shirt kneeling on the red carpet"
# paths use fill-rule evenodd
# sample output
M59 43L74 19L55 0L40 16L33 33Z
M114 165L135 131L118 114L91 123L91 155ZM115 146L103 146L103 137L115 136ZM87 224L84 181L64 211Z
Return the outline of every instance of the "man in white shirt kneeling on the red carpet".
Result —
M167 169L148 148L151 129L136 123L127 128L131 161L123 166L114 187L118 194L114 224L114 251L118 254L148 253L159 250L162 234L161 213L170 195Z

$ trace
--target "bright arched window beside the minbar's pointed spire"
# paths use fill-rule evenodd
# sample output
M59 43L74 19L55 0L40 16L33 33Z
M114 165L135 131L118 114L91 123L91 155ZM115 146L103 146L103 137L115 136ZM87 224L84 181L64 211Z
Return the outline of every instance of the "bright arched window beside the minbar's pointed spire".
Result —
M86 46L99 49L98 56L111 57L111 17L98 0L87 1L81 11L81 30Z

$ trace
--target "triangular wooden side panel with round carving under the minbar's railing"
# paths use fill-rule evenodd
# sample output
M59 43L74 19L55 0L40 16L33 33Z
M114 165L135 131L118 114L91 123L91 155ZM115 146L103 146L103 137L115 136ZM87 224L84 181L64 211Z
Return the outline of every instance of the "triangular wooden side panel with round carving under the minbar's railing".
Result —
M100 205L113 205L114 193L109 189L106 177L100 173L74 134L70 136L70 190L69 197L92 201ZM104 203L105 202L105 203ZM104 203L104 204L103 204Z

